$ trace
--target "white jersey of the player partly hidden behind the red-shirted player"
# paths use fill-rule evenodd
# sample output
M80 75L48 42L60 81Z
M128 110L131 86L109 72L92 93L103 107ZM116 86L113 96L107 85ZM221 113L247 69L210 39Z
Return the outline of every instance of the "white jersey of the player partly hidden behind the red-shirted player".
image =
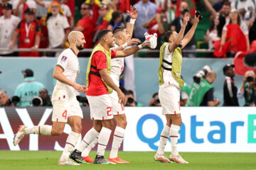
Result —
M114 43L114 48L119 47L116 43ZM111 72L110 77L114 81L114 84L119 86L119 77L122 74L122 71L124 70L124 58L114 58L110 62L111 66Z

